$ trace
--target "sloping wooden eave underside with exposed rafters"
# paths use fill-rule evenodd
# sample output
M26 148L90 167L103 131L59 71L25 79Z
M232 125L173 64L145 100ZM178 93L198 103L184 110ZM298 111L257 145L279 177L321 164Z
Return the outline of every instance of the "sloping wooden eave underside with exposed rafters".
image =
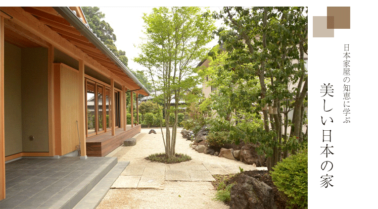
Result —
M76 11L78 17L82 17L85 21L81 9L78 7L72 8ZM44 47L46 47L46 44L52 44L67 55L83 60L93 70L108 78L114 78L115 82L124 85L129 90L140 88L112 59L102 53L54 8L2 7L1 9L12 16L11 19L7 20L7 25L10 25L10 28L18 28L16 31L12 30L14 33L22 30L23 36ZM148 95L143 89L134 92Z

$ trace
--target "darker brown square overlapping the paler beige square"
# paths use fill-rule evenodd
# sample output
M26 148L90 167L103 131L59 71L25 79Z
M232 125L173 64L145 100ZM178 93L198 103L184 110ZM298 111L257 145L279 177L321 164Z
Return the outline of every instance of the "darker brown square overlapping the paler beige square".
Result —
M334 29L350 29L350 7L327 7L327 16L335 17Z

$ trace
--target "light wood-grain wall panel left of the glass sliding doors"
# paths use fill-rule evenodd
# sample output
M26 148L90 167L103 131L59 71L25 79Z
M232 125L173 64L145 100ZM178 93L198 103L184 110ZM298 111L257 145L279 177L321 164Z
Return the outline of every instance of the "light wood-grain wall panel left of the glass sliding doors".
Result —
M79 97L77 89L79 71L61 64L60 70L60 108L62 155L76 150L79 145L76 121L79 121Z

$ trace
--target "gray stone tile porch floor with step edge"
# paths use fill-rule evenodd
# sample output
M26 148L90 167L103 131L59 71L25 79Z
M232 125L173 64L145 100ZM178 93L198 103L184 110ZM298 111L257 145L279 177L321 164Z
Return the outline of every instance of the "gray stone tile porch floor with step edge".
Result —
M6 198L0 208L72 208L116 164L116 158L66 156L7 163Z

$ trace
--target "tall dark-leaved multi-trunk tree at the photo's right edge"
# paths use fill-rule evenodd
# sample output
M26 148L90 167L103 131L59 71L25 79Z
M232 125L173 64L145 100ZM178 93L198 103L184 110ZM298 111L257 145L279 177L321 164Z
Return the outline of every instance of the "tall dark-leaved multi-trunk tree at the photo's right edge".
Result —
M237 84L235 86L238 88L245 88L248 82L241 80L259 80L258 95L249 92L243 94L246 97L257 96L252 101L256 101L256 110L262 111L263 127L267 135L272 137L268 169L279 161L280 148L287 141L286 135L281 137L281 110L286 109L288 112L294 109L291 136L298 137L299 141L303 138L301 128L308 82L304 68L304 54L307 53L305 13L307 8L303 7L224 7L219 14L213 14L213 17L222 19L230 28L219 28L216 34L228 53L223 67L233 72L231 82ZM293 60L299 63L293 63ZM298 83L298 86L289 89L293 83ZM239 108L252 111L249 109L251 105L247 107L238 99L232 99L231 102L239 102ZM273 111L269 113L266 107Z

